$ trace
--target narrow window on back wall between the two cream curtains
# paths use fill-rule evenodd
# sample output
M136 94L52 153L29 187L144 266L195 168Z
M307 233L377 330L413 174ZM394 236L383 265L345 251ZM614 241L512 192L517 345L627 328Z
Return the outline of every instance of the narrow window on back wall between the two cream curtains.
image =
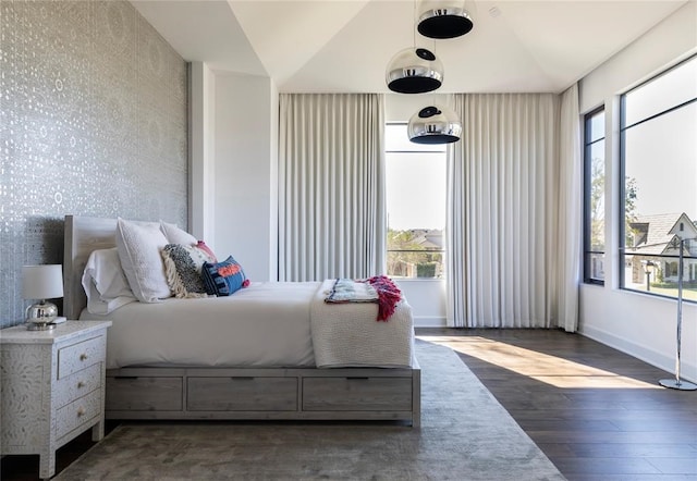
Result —
M445 145L409 141L406 124L386 125L388 275L443 278Z

